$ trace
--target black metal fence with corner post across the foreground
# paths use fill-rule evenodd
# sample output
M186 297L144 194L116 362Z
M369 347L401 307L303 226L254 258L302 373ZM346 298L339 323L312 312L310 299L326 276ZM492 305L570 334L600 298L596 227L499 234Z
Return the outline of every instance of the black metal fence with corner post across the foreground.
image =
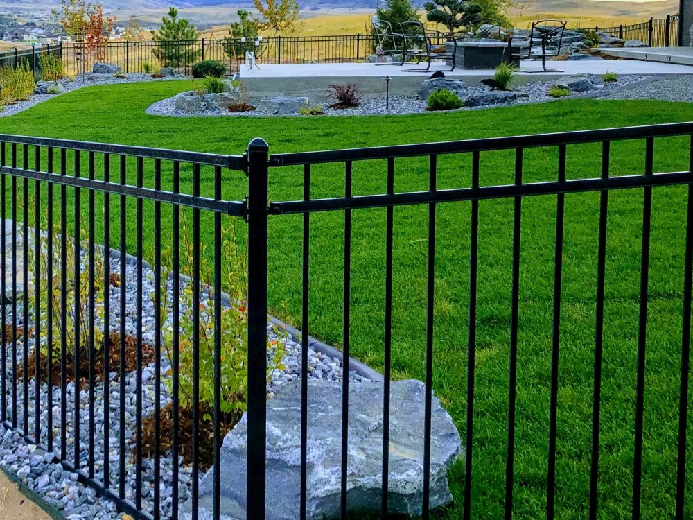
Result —
M681 159L682 171L659 171L656 167L656 143L665 139L685 140ZM636 141L642 161L635 171L624 172L612 160L613 148L625 141ZM570 171L572 151L590 144L598 147L601 158L598 171L587 178L575 178ZM544 171L545 164L534 164L529 157L532 149L540 148L545 155L555 157L554 180L527 182L527 175ZM426 426L423 458L419 460L421 475L429 474L433 432L431 431L432 391L438 358L435 355L435 291L436 245L442 233L460 234L460 229L440 229L444 220L437 211L452 203L468 203L469 249L457 255L468 257L468 327L466 338L459 348L466 349L466 417L459 421L463 431L465 462L462 487L457 495L457 512L471 517L474 469L487 461L473 458L478 420L475 410L475 366L482 345L477 343L477 288L484 258L479 255L480 201L507 199L513 203L511 287L509 291L509 365L507 407L507 455L505 474L499 476L505 495L505 517L510 519L518 491L515 481L516 429L518 410L518 349L520 329L520 244L523 240L523 202L551 197L556 199L556 236L552 245L554 271L552 340L550 342L550 401L547 403L548 467L545 514L554 517L556 501L556 461L570 455L556 449L559 395L559 358L561 352L561 288L563 272L563 229L566 196L599 194L599 223L597 239L597 272L595 295L595 329L593 336L593 390L590 417L589 504L583 504L584 517L597 518L599 512L599 478L604 471L613 471L614 464L626 464L610 459L608 469L600 465L600 442L604 424L600 419L602 405L602 363L604 358L604 308L606 287L608 201L624 191L641 191L642 239L640 243L640 290L634 298L639 302L637 327L637 376L633 389L633 487L632 515L640 517L642 501L642 461L647 447L644 435L644 396L646 388L646 352L648 323L648 289L650 236L653 213L652 194L655 189L687 187L687 217L685 220L685 266L683 280L683 309L680 352L680 372L669 374L676 379L677 390L672 397L672 412L678 422L678 434L672 440L676 456L676 503L669 516L678 520L690 518L691 503L685 502L687 428L690 405L690 324L693 276L693 123L654 125L613 130L590 130L561 134L502 137L471 141L451 141L435 144L385 146L352 150L332 150L312 153L270 154L267 143L256 139L240 155L210 155L172 150L155 150L131 146L92 144L57 139L14 137L0 135L0 212L3 236L11 235L11 243L0 243L3 263L0 266L0 291L8 305L1 310L4 327L2 338L3 377L1 379L1 419L6 428L21 431L28 442L39 444L55 453L64 467L78 471L80 479L94 487L139 519L178 518L183 510L198 513L199 478L205 467L213 470L213 500L209 509L220 517L220 440L225 423L226 393L222 393L222 360L225 352L224 334L228 323L220 319L229 306L237 303L238 320L247 318L247 512L249 519L265 517L266 489L265 426L267 406L267 310L268 260L272 226L270 220L301 216L301 331L308 338L312 330L310 272L315 266L311 243L320 232L311 225L311 216L325 212L342 214L342 229L331 227L322 240L334 248L343 245L343 331L344 374L349 373L350 332L356 325L351 311L352 256L351 243L356 236L352 221L372 209L385 211L385 270L383 301L384 329L382 345L385 383L383 388L383 446L389 446L390 379L393 374L393 270L394 215L401 207L420 207L428 215L424 233L426 241L426 314L425 329L425 401ZM510 184L486 184L481 178L484 162L506 154L510 158ZM440 164L446 159L462 159L459 164L468 168L468 184L455 177L447 178L445 187L439 184ZM408 164L407 161L414 161ZM398 165L418 172L420 189L396 189ZM368 165L369 178L378 177L384 189L365 193L354 183L357 172ZM456 166L457 168L457 166ZM229 173L230 171L230 173ZM280 175L281 171L281 175ZM325 193L314 186L315 178L328 172L331 180L338 179L341 194ZM459 173L459 170L455 170ZM243 173L247 181L243 180ZM616 173L615 173L616 172ZM626 175L624 175L626 173ZM275 175L276 174L276 175ZM277 200L273 179L298 175L302 197ZM361 177L360 177L361 178ZM270 190L270 187L272 189ZM248 193L243 200L234 193ZM314 193L317 192L317 195ZM272 193L272 197L270 197ZM267 202L270 200L270 202ZM10 220L4 220L9 218ZM247 309L245 302L225 302L223 291L225 263L225 225L229 220L247 220ZM313 221L315 223L315 221ZM10 229L8 229L8 226ZM245 229L242 227L241 229ZM323 232L325 230L323 229ZM616 228L609 233L618 232ZM98 244L107 248L99 248ZM170 243L170 256L166 244ZM337 244L338 243L338 244ZM331 247L332 247L331 246ZM110 250L110 251L109 251ZM134 257L126 261L127 254ZM149 267L143 257L152 259ZM11 261L8 263L8 259ZM8 272L10 270L11 272ZM119 280L114 280L114 272ZM270 273L271 274L271 273ZM185 276L183 276L185 275ZM678 285L678 281L676 284ZM340 284L341 285L341 284ZM21 288L30 288L21 290ZM110 290L107 290L110 288ZM214 290L216 288L216 290ZM653 288L654 289L654 288ZM229 289L230 290L230 289ZM134 291L134 299L128 299ZM671 288L664 291L673 291ZM678 290L677 290L678 291ZM151 294L151 297L149 296ZM8 297L9 295L9 297ZM153 316L144 313L152 302ZM116 307L117 305L117 307ZM615 303L614 305L617 305ZM131 307L132 306L132 307ZM116 307L116 309L114 309ZM112 312L116 311L116 312ZM247 313L247 315L245 314ZM131 319L126 320L124 317ZM222 324L223 322L223 324ZM55 327L58 324L58 327ZM21 330L20 330L21 329ZM204 331L202 333L201 331ZM236 333L236 332L234 332ZM242 333L242 332L239 332ZM128 336L134 337L128 347ZM30 337L34 347L30 349ZM466 346L462 346L466 345ZM128 348L131 348L128 351ZM207 353L207 354L205 354ZM114 354L117 356L114 358ZM134 358L132 364L128 356ZM200 359L204 357L204 363ZM307 349L301 352L302 366L308 366ZM114 361L117 359L116 361ZM208 363L209 362L209 365ZM440 361L442 362L442 361ZM210 369L211 366L211 369ZM206 374L206 375L205 375ZM306 515L306 486L310 467L307 461L308 402L307 372L301 372L301 517ZM211 379L205 379L206 376ZM104 380L109 391L103 390ZM151 385L153 381L153 385ZM187 381L189 385L183 382ZM206 381L206 383L205 383ZM209 383L212 381L212 383ZM204 383L204 385L203 385ZM349 395L349 379L342 379L342 392ZM76 391L80 386L82 391ZM149 386L148 386L149 385ZM211 386L209 386L211 385ZM55 388L55 392L47 391ZM201 390L202 388L202 390ZM212 397L208 393L213 388ZM181 390L184 389L184 390ZM33 395L32 395L33 393ZM133 397L134 395L134 397ZM207 399L207 401L205 400ZM211 399L211 400L210 400ZM133 402L134 401L134 402ZM675 401L675 402L674 402ZM95 404L103 403L102 407ZM192 410L190 417L179 416L184 402ZM347 401L343 401L347 402ZM668 401L667 401L668 402ZM205 403L209 408L205 408ZM170 412L162 413L170 405ZM348 405L348 402L347 402ZM46 410L51 410L46 413ZM58 413L53 413L58 410ZM341 514L347 517L349 494L348 406L342 411L341 453ZM82 414L82 415L80 415ZM168 415L170 414L170 415ZM86 415L86 417L85 417ZM209 415L209 417L207 417ZM168 417L168 418L167 418ZM149 419L150 420L148 422ZM45 419L45 420L44 420ZM166 419L166 420L164 420ZM656 418L655 418L656 419ZM211 421L204 430L203 422ZM98 428L94 425L97 424ZM103 428L101 425L103 424ZM505 429L505 426L498 426ZM95 437L103 429L111 435ZM171 437L167 437L167 432ZM475 433L476 432L476 433ZM164 445L164 437L168 444ZM186 441L185 438L188 438ZM209 442L209 440L212 442ZM185 444L187 442L187 444ZM204 443L207 444L204 444ZM505 443L504 443L505 445ZM538 449L538 448L536 448ZM544 450L545 448L541 448ZM109 457L109 453L115 453ZM202 454L211 453L209 464L202 465ZM383 450L382 513L389 509L388 464L389 450ZM179 456L189 457L189 465L179 464ZM164 463L169 461L168 466ZM128 467L134 467L128 473ZM170 468L170 475L162 467ZM186 469L187 468L187 469ZM179 496L179 472L189 471L189 497ZM129 475L134 478L130 486ZM173 496L168 497L168 510L161 499L161 489L170 485ZM524 484L523 484L524 485ZM690 484L688 484L690 485ZM430 482L422 477L423 518L429 517ZM189 494L188 494L189 493ZM180 509L180 512L179 512ZM456 515L458 513L455 513ZM559 515L560 516L560 515Z

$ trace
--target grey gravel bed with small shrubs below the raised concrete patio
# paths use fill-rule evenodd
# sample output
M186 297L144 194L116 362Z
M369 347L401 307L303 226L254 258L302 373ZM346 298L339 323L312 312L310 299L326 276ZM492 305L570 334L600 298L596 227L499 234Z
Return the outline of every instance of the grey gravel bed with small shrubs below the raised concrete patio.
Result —
M567 98L584 98L604 96L610 92L620 92L624 88L633 87L639 83L646 82L649 77L643 76L619 76L615 82L605 82L600 76L588 76L590 80L597 86L597 89L584 94L574 93ZM527 94L526 98L518 98L515 101L507 103L507 105L525 105L527 103L544 103L546 101L555 101L555 98L547 96L546 93L554 84L553 81L540 81L534 83L525 83L516 87L517 92ZM489 87L467 87L468 94L482 94L489 92ZM269 114L261 114L259 112L226 112L224 110L209 110L206 112L183 113L176 110L175 99L172 98L157 101L146 110L147 114L158 116L175 116L175 117L200 117L200 116L232 116L232 117L297 117L301 114L290 114L282 116L271 116ZM318 103L321 104L321 103ZM376 116L376 115L401 115L401 114L421 114L426 112L426 101L418 96L390 96L389 107L386 106L385 98L365 98L362 99L360 105L355 108L335 109L329 108L326 103L321 104L326 116ZM506 105L506 106L507 106ZM493 105L495 107L502 105ZM462 107L458 110L478 110L486 107ZM308 117L308 116L303 116Z

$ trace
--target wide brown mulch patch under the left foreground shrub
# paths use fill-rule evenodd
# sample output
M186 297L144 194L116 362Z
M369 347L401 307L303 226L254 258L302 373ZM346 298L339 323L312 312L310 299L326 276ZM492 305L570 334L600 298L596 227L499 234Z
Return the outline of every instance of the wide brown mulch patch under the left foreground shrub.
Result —
M109 336L109 371L110 372L120 372L121 366L121 336L119 333L111 333ZM86 351L83 351L86 354ZM60 365L60 354L57 352L53 355L53 364L51 367L51 381L53 384L60 381L61 376L61 365ZM94 363L94 378L104 381L104 363L103 363L103 350L98 352L98 356ZM148 365L154 361L154 347L148 345L147 343L142 344L142 365ZM133 336L125 336L125 372L132 372L137 370L137 340ZM21 379L24 376L24 365L19 363L17 365L17 379ZM30 355L28 361L28 374L32 377L36 373L36 356ZM78 366L78 379L80 380L81 386L87 386L89 384L89 358L84 356L80 360ZM48 357L46 354L41 353L39 356L39 374L42 383L48 381ZM65 376L67 382L75 380L75 366L73 356L68 356L67 363L65 365Z

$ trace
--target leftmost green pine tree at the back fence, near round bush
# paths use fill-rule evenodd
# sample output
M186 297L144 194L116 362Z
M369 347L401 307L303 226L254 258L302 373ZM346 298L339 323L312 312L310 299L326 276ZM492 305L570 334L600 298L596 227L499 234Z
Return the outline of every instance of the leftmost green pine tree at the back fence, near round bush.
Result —
M198 30L185 18L178 18L178 10L170 8L168 16L161 18L161 27L152 31L152 54L163 67L186 67L200 57L195 44L200 37Z

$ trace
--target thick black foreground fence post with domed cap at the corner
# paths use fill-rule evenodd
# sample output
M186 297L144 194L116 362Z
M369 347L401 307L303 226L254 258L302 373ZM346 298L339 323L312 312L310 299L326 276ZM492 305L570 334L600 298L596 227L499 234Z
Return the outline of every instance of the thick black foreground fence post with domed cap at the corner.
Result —
M267 434L267 185L270 147L253 139L248 176L248 458L247 520L265 519Z

